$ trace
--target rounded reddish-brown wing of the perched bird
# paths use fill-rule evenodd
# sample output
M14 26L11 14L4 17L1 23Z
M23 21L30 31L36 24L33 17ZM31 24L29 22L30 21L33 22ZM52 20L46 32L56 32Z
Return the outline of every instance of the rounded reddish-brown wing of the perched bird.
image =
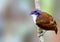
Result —
M44 29L52 29L56 27L56 21L46 12L42 12L42 15L37 18L36 24Z

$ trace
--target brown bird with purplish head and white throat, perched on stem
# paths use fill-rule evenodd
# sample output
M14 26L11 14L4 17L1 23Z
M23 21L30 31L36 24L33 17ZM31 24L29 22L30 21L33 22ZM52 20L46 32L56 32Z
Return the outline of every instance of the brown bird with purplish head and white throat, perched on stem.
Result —
M39 29L46 31L55 31L57 34L58 28L55 19L47 12L41 10L33 10L30 14L33 17L33 21ZM41 31L40 33L42 33Z

